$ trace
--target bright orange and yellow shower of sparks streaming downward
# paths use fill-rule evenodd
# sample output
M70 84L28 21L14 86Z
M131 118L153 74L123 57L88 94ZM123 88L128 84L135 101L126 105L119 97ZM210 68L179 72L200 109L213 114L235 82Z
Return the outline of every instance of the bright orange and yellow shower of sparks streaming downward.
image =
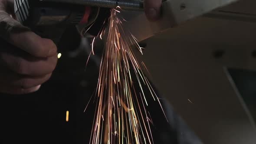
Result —
M109 26L104 29L107 39L95 95L97 104L90 144L154 144L150 128L153 122L147 111L148 95L144 89L149 90L160 106L161 103L135 58L132 44L136 44L141 54L142 48L135 36L125 34L122 28L125 20L117 16L120 7L116 9L111 10ZM144 63L142 67L146 69Z

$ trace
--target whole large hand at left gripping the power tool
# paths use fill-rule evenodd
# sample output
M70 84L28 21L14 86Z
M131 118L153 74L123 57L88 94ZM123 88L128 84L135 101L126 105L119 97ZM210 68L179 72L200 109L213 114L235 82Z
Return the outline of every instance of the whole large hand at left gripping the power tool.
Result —
M12 17L13 0L0 0L0 92L35 92L55 69L57 48Z

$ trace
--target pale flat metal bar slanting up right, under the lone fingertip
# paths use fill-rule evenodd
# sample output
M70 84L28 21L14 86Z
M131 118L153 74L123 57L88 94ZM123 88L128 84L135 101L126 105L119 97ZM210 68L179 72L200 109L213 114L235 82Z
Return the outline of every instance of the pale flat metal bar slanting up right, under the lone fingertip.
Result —
M157 22L149 22L144 13L134 12L124 16L129 21L125 27L130 29L138 41L156 34L205 13L236 2L237 0L167 0L162 4L163 16ZM130 12L128 12L130 13ZM132 16L132 17L130 17Z

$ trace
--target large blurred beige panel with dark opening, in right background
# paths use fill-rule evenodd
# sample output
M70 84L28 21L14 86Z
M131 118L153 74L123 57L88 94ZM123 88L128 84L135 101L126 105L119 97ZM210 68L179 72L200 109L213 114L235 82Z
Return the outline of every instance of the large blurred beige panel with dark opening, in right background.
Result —
M255 37L255 23L201 17L147 41L141 59L153 83L204 144L255 144L255 123L226 70L256 70Z

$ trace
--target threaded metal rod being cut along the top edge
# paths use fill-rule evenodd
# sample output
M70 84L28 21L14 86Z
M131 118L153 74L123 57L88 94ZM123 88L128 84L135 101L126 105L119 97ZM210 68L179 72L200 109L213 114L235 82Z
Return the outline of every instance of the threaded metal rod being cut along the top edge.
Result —
M142 0L41 0L58 3L82 4L93 7L116 8L120 6L123 10L143 10Z

